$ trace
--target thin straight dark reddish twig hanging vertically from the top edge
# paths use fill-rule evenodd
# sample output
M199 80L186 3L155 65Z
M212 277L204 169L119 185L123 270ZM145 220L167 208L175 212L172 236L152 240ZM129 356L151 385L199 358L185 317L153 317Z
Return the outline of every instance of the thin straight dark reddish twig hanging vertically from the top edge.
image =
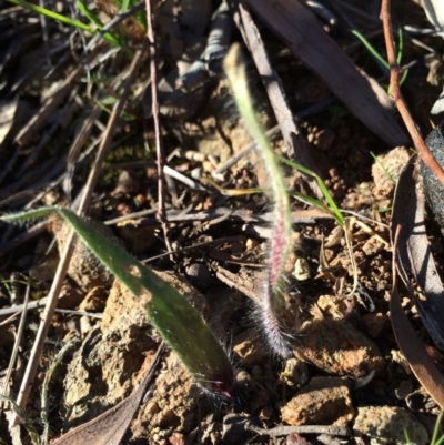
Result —
M159 188L158 219L162 225L167 250L171 251L172 249L169 240L168 218L165 212L165 188L164 188L165 178L163 173L163 166L165 165L165 153L163 150L163 138L161 134L160 118L159 118L158 64L155 60L157 54L155 54L154 27L153 27L151 1L152 0L145 0L147 24L148 24L147 37L150 47L152 117L154 121L154 132L155 132L155 154L158 158L158 188Z

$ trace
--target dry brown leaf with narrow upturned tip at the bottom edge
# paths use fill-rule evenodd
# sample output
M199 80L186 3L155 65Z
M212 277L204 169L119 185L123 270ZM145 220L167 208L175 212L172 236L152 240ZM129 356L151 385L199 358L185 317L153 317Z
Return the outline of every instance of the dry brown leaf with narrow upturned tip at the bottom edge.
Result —
M119 445L139 407L144 390L162 358L165 344L159 346L150 368L131 395L118 405L83 425L71 429L51 445Z

